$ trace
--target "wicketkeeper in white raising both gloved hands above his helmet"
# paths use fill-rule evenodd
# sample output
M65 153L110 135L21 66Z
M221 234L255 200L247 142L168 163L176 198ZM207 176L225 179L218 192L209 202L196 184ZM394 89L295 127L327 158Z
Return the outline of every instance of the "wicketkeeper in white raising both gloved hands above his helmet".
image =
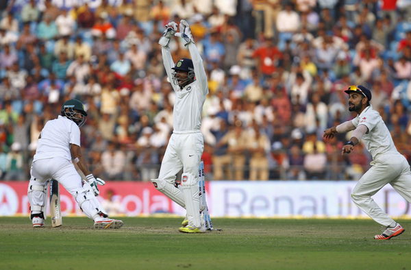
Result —
M175 91L176 100L173 108L173 134L167 145L158 179L152 179L151 182L158 191L186 208L187 215L179 228L180 232L203 233L206 232L206 227L200 217L198 169L204 149L200 126L203 103L208 94L207 76L188 23L180 21L179 32L176 32L177 23L168 23L159 40L164 68ZM182 58L174 64L169 48L173 36L182 38L192 59ZM177 187L175 175L181 169L182 181Z

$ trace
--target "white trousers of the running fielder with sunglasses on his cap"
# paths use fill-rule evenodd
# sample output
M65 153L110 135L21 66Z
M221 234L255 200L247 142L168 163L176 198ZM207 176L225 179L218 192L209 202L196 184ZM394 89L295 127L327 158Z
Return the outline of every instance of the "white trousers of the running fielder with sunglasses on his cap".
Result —
M410 165L401 154L381 154L370 164L372 167L362 175L351 193L351 198L377 223L388 226L394 220L379 208L371 196L386 184L390 184L395 191L411 203Z

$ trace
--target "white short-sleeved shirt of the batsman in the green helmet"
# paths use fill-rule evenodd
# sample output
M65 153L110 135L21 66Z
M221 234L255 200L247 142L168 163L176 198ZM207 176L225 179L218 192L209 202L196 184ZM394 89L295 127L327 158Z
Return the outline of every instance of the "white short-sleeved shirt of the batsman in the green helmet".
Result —
M66 116L47 121L40 135L33 161L55 157L71 160L70 144L80 146L80 129Z

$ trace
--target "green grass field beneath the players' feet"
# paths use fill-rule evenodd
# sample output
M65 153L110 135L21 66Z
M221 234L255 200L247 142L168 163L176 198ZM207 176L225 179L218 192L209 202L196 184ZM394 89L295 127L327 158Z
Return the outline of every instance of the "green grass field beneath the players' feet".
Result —
M0 217L0 269L411 269L410 220L389 241L373 240L371 220L214 219L221 231L194 235L179 233L177 218L123 221L93 230L64 217L33 229L27 217Z

